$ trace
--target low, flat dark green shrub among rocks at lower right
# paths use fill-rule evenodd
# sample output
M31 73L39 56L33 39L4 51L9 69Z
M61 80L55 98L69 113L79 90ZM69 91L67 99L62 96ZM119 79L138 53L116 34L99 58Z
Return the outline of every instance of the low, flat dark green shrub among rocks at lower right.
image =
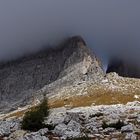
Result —
M113 128L116 128L117 130L119 130L124 125L125 125L124 122L120 121L120 120L118 120L116 123L110 123L110 124L107 124L106 122L103 122L102 128L105 129L105 128L108 128L108 127L113 127Z

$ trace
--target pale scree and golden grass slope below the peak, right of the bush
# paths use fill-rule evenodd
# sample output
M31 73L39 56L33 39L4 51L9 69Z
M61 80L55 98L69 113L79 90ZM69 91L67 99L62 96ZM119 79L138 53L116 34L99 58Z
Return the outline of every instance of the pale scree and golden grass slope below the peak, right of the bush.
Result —
M51 88L54 85L44 87L37 94L48 91L49 86ZM56 86L54 90L51 89L51 96L49 97L52 107L126 104L130 101L140 101L140 80L124 78L116 73L110 73L98 82L81 81L63 88L57 88Z

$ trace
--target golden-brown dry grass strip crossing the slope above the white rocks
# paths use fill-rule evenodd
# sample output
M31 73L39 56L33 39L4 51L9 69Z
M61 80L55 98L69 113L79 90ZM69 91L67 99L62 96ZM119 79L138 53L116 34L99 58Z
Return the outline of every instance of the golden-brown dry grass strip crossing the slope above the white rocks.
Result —
M140 94L140 93L139 93ZM139 95L138 94L138 95ZM127 102L134 101L134 94L128 93L123 94L120 91L111 91L111 90L104 90L103 88L96 89L93 87L88 87L87 95L75 95L70 97L65 97L62 99L50 99L48 100L48 104L50 108L58 108L63 106L70 106L70 107L85 107L90 106L92 104L95 105L111 105L111 104L126 104ZM140 101L140 99L138 99ZM25 112L29 109L14 112L9 114L6 118L9 117L21 117Z

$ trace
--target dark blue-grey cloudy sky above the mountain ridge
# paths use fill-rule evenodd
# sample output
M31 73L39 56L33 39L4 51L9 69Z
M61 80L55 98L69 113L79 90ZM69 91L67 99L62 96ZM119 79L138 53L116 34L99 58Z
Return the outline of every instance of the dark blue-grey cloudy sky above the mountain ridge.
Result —
M117 56L139 64L140 0L0 0L0 60L72 35L104 63Z

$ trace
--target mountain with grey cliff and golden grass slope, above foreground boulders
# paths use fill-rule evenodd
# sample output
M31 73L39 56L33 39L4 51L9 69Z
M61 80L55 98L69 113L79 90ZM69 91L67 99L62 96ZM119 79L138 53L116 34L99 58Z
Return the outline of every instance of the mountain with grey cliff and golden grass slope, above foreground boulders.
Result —
M140 80L105 74L80 36L56 48L0 65L0 111L39 103L51 107L127 103L139 100Z

